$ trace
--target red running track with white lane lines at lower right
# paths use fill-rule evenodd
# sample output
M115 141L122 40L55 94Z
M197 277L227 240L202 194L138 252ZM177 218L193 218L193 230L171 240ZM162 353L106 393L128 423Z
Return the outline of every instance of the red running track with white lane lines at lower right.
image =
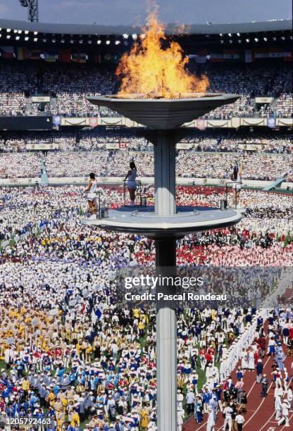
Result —
M286 351L285 351L286 353ZM264 370L263 373L268 375L269 379L272 372L271 366L273 365L273 359L270 357L265 357L263 359ZM239 364L240 365L240 364ZM292 366L292 356L286 357L285 367L289 375L291 375ZM233 381L236 380L235 371L232 373ZM245 419L243 426L244 431L285 431L293 430L293 411L289 411L289 424L290 427L285 427L284 425L278 426L275 420L275 409L274 409L274 388L275 385L273 380L270 379L268 387L268 396L262 398L261 394L261 384L256 383L256 372L255 371L245 371L243 376L244 389L247 391L247 413L242 413ZM184 431L206 431L206 419L207 414L204 415L204 420L201 424L197 424L194 418L187 420L183 426ZM223 430L223 418L222 413L218 413L218 420L216 422L215 431Z

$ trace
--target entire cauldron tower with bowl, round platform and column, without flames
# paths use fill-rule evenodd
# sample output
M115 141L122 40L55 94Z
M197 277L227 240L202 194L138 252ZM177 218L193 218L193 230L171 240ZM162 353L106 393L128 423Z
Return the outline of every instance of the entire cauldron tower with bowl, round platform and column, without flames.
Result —
M155 205L121 207L110 210L108 218L84 219L84 225L100 226L116 232L133 232L154 239L156 271L170 275L176 268L176 239L192 232L237 224L242 214L228 208L176 206L175 145L188 133L183 123L199 118L213 109L239 99L235 94L205 94L180 99L141 99L98 96L92 104L107 106L139 124L149 127L144 136L154 144ZM173 287L163 286L165 292ZM174 306L157 304L156 376L158 431L177 431L177 320Z

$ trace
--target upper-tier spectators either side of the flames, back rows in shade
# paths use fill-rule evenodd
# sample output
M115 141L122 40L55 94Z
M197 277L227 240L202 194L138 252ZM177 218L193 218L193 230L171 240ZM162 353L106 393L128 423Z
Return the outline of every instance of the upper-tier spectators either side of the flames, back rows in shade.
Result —
M233 105L217 108L210 119L240 117L292 117L292 74L288 65L208 65L204 73L211 92L240 94ZM30 96L49 94L43 111L65 116L117 115L89 104L87 96L112 94L117 89L113 71L97 66L1 64L0 115L36 115L41 104ZM257 96L272 96L273 104L255 104Z

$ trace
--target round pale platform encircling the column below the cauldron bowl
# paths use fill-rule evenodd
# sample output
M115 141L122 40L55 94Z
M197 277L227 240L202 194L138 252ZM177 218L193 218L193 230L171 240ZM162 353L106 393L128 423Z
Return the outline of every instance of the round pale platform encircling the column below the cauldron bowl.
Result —
M184 237L192 232L236 225L243 211L204 206L179 206L175 215L156 215L154 206L123 206L110 210L108 218L81 219L87 226L99 226L105 230L131 232L149 238Z

